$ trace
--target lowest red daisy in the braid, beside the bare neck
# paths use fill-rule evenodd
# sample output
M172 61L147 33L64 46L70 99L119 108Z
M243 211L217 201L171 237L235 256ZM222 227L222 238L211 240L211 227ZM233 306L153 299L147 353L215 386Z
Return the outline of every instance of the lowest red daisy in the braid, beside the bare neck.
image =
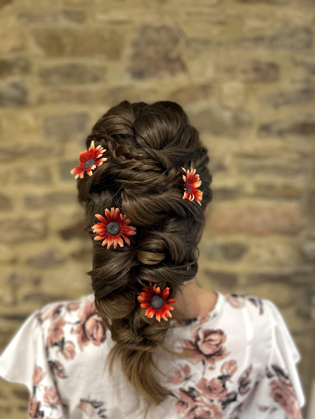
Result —
M161 317L168 321L167 318L172 317L170 310L173 310L169 303L176 303L173 298L167 300L170 293L169 287L161 292L160 287L156 287L156 284L152 285L150 282L150 288L143 287L142 290L143 292L138 292L138 301L142 308L147 308L145 315L149 318L155 315L158 322L161 321Z

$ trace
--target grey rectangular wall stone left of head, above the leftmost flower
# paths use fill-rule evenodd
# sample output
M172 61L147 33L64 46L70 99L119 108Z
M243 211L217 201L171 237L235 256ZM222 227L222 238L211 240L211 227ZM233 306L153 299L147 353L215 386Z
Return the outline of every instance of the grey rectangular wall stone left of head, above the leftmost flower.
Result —
M86 113L47 116L43 130L48 140L63 141L73 138L76 134L84 135L87 130L89 115Z

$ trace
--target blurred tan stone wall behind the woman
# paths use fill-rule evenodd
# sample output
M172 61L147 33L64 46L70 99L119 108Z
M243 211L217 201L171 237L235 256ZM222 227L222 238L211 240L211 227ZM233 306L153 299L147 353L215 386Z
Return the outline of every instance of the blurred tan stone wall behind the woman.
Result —
M0 0L1 349L32 311L91 292L69 171L92 124L172 100L211 156L199 282L278 305L310 397L314 23L314 0ZM2 381L0 415L25 418L27 398Z

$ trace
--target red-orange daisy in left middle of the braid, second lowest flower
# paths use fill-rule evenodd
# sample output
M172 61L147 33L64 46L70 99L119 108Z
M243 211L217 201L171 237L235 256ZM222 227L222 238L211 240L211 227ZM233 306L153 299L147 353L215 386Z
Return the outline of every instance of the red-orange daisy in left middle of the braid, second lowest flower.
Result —
M123 239L129 246L130 241L127 235L136 234L136 228L128 225L130 224L129 218L126 215L122 216L119 208L111 208L110 211L106 208L105 215L107 220L102 215L95 214L95 217L101 222L92 226L93 233L98 234L94 240L103 240L102 246L107 244L108 249L112 245L116 249L117 244L123 247Z

